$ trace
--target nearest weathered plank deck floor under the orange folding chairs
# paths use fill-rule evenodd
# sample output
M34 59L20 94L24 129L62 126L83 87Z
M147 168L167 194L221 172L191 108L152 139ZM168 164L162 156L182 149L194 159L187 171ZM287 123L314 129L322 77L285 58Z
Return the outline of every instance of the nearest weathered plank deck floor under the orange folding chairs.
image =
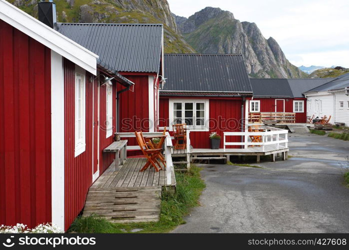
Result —
M166 170L156 172L155 169L147 168L145 171L139 170L146 162L146 158L127 158L125 164L119 171L114 171L109 167L93 183L90 190L110 189L116 187L144 187L144 186L164 186L166 183ZM176 179L172 168L172 183L176 185Z

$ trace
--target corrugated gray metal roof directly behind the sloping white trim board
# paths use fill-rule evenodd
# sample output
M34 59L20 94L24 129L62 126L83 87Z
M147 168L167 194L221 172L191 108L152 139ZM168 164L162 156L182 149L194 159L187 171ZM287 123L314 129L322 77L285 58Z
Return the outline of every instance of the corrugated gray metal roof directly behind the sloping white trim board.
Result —
M162 24L57 23L56 29L99 55L110 71L160 70Z

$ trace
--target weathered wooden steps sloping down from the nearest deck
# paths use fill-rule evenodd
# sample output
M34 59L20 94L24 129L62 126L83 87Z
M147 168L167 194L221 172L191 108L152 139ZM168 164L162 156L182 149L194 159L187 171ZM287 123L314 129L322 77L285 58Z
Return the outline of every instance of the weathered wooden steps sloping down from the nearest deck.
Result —
M97 214L115 223L158 221L161 186L92 189L83 216Z

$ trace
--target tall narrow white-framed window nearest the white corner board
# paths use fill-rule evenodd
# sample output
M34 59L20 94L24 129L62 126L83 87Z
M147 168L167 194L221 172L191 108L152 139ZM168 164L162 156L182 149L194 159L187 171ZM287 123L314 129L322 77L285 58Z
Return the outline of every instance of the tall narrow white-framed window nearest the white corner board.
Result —
M75 157L86 150L85 70L75 66Z

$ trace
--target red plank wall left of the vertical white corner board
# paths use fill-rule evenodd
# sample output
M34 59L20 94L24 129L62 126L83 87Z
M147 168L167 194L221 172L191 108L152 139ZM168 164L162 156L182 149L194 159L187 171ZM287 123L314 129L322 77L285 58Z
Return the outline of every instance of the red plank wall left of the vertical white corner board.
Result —
M50 61L0 20L0 224L51 221Z

